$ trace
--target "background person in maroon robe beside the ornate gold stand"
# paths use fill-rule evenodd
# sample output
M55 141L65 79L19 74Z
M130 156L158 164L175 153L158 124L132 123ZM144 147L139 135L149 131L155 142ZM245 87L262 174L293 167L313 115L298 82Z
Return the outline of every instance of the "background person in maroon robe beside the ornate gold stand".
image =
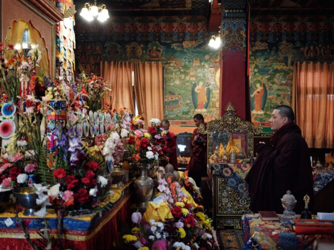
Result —
M188 176L192 177L198 187L201 186L201 178L207 176L206 165L207 165L207 135L201 134L198 131L198 127L201 123L204 123L204 117L202 114L198 113L194 115L194 122L197 128L195 128L191 137L191 148L192 156L187 165L186 170L188 171Z

